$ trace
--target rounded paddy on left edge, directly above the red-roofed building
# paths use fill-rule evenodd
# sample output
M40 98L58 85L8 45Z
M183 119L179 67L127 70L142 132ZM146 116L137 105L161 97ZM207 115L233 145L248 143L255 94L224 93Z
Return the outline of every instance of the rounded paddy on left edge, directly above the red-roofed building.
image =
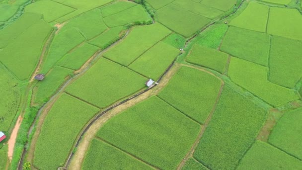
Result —
M6 132L18 111L21 95L17 80L1 64L0 82L0 129Z

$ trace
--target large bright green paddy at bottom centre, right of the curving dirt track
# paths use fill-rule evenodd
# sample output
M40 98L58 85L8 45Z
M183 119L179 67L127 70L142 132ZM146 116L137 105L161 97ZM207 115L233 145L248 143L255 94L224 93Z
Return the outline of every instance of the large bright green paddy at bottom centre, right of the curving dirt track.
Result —
M97 136L163 170L176 169L200 126L153 96L110 119Z

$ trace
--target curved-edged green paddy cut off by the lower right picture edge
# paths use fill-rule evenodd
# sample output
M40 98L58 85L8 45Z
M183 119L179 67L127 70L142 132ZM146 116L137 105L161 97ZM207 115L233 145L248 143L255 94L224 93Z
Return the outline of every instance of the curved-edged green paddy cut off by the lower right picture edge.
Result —
M302 159L302 109L288 113L278 121L269 137L269 143Z

